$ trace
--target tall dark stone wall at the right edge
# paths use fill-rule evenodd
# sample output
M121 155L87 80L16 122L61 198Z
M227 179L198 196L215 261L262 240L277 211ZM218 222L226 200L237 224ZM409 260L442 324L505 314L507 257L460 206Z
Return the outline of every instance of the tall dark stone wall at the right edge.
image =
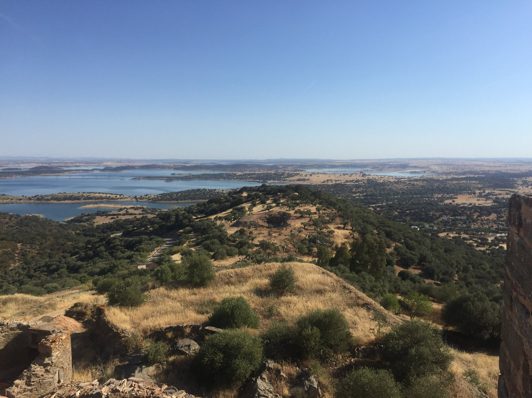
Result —
M504 278L499 398L532 397L532 196L513 195Z

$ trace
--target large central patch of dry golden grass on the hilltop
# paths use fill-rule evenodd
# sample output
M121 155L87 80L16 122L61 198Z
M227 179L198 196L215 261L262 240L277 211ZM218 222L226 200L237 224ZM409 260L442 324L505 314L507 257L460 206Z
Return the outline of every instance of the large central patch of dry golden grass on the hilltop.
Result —
M289 265L298 279L294 294L277 297L270 293L268 278L280 264L268 263L220 271L214 283L206 288L154 289L149 302L138 308L110 308L107 318L118 327L146 336L168 325L203 324L216 303L228 296L244 296L259 316L261 330L279 320L292 324L307 311L338 308L356 340L371 341L374 335L370 329L377 323L372 319L372 311L361 306L370 299L345 288L343 281L314 264Z

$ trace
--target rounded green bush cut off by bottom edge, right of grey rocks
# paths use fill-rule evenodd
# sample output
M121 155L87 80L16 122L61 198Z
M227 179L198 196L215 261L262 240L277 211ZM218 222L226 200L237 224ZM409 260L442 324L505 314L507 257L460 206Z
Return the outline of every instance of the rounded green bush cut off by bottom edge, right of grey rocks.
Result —
M401 398L401 390L388 370L360 368L340 380L336 396Z

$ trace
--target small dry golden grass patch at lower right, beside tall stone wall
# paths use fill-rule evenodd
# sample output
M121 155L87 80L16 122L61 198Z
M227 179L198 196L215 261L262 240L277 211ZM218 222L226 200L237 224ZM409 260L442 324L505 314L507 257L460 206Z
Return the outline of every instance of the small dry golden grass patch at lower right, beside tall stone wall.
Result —
M486 394L490 398L496 398L499 374L498 356L481 352L467 353L456 350L451 352L454 356L454 360L451 363L451 371L456 376L462 376L466 370L475 370L480 383L486 388Z

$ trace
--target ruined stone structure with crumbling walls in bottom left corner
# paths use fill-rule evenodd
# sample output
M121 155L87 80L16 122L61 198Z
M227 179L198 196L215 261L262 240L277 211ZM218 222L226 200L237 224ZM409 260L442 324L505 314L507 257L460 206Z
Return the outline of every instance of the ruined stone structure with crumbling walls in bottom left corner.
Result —
M0 322L0 382L10 398L37 398L72 380L70 332L49 323Z

